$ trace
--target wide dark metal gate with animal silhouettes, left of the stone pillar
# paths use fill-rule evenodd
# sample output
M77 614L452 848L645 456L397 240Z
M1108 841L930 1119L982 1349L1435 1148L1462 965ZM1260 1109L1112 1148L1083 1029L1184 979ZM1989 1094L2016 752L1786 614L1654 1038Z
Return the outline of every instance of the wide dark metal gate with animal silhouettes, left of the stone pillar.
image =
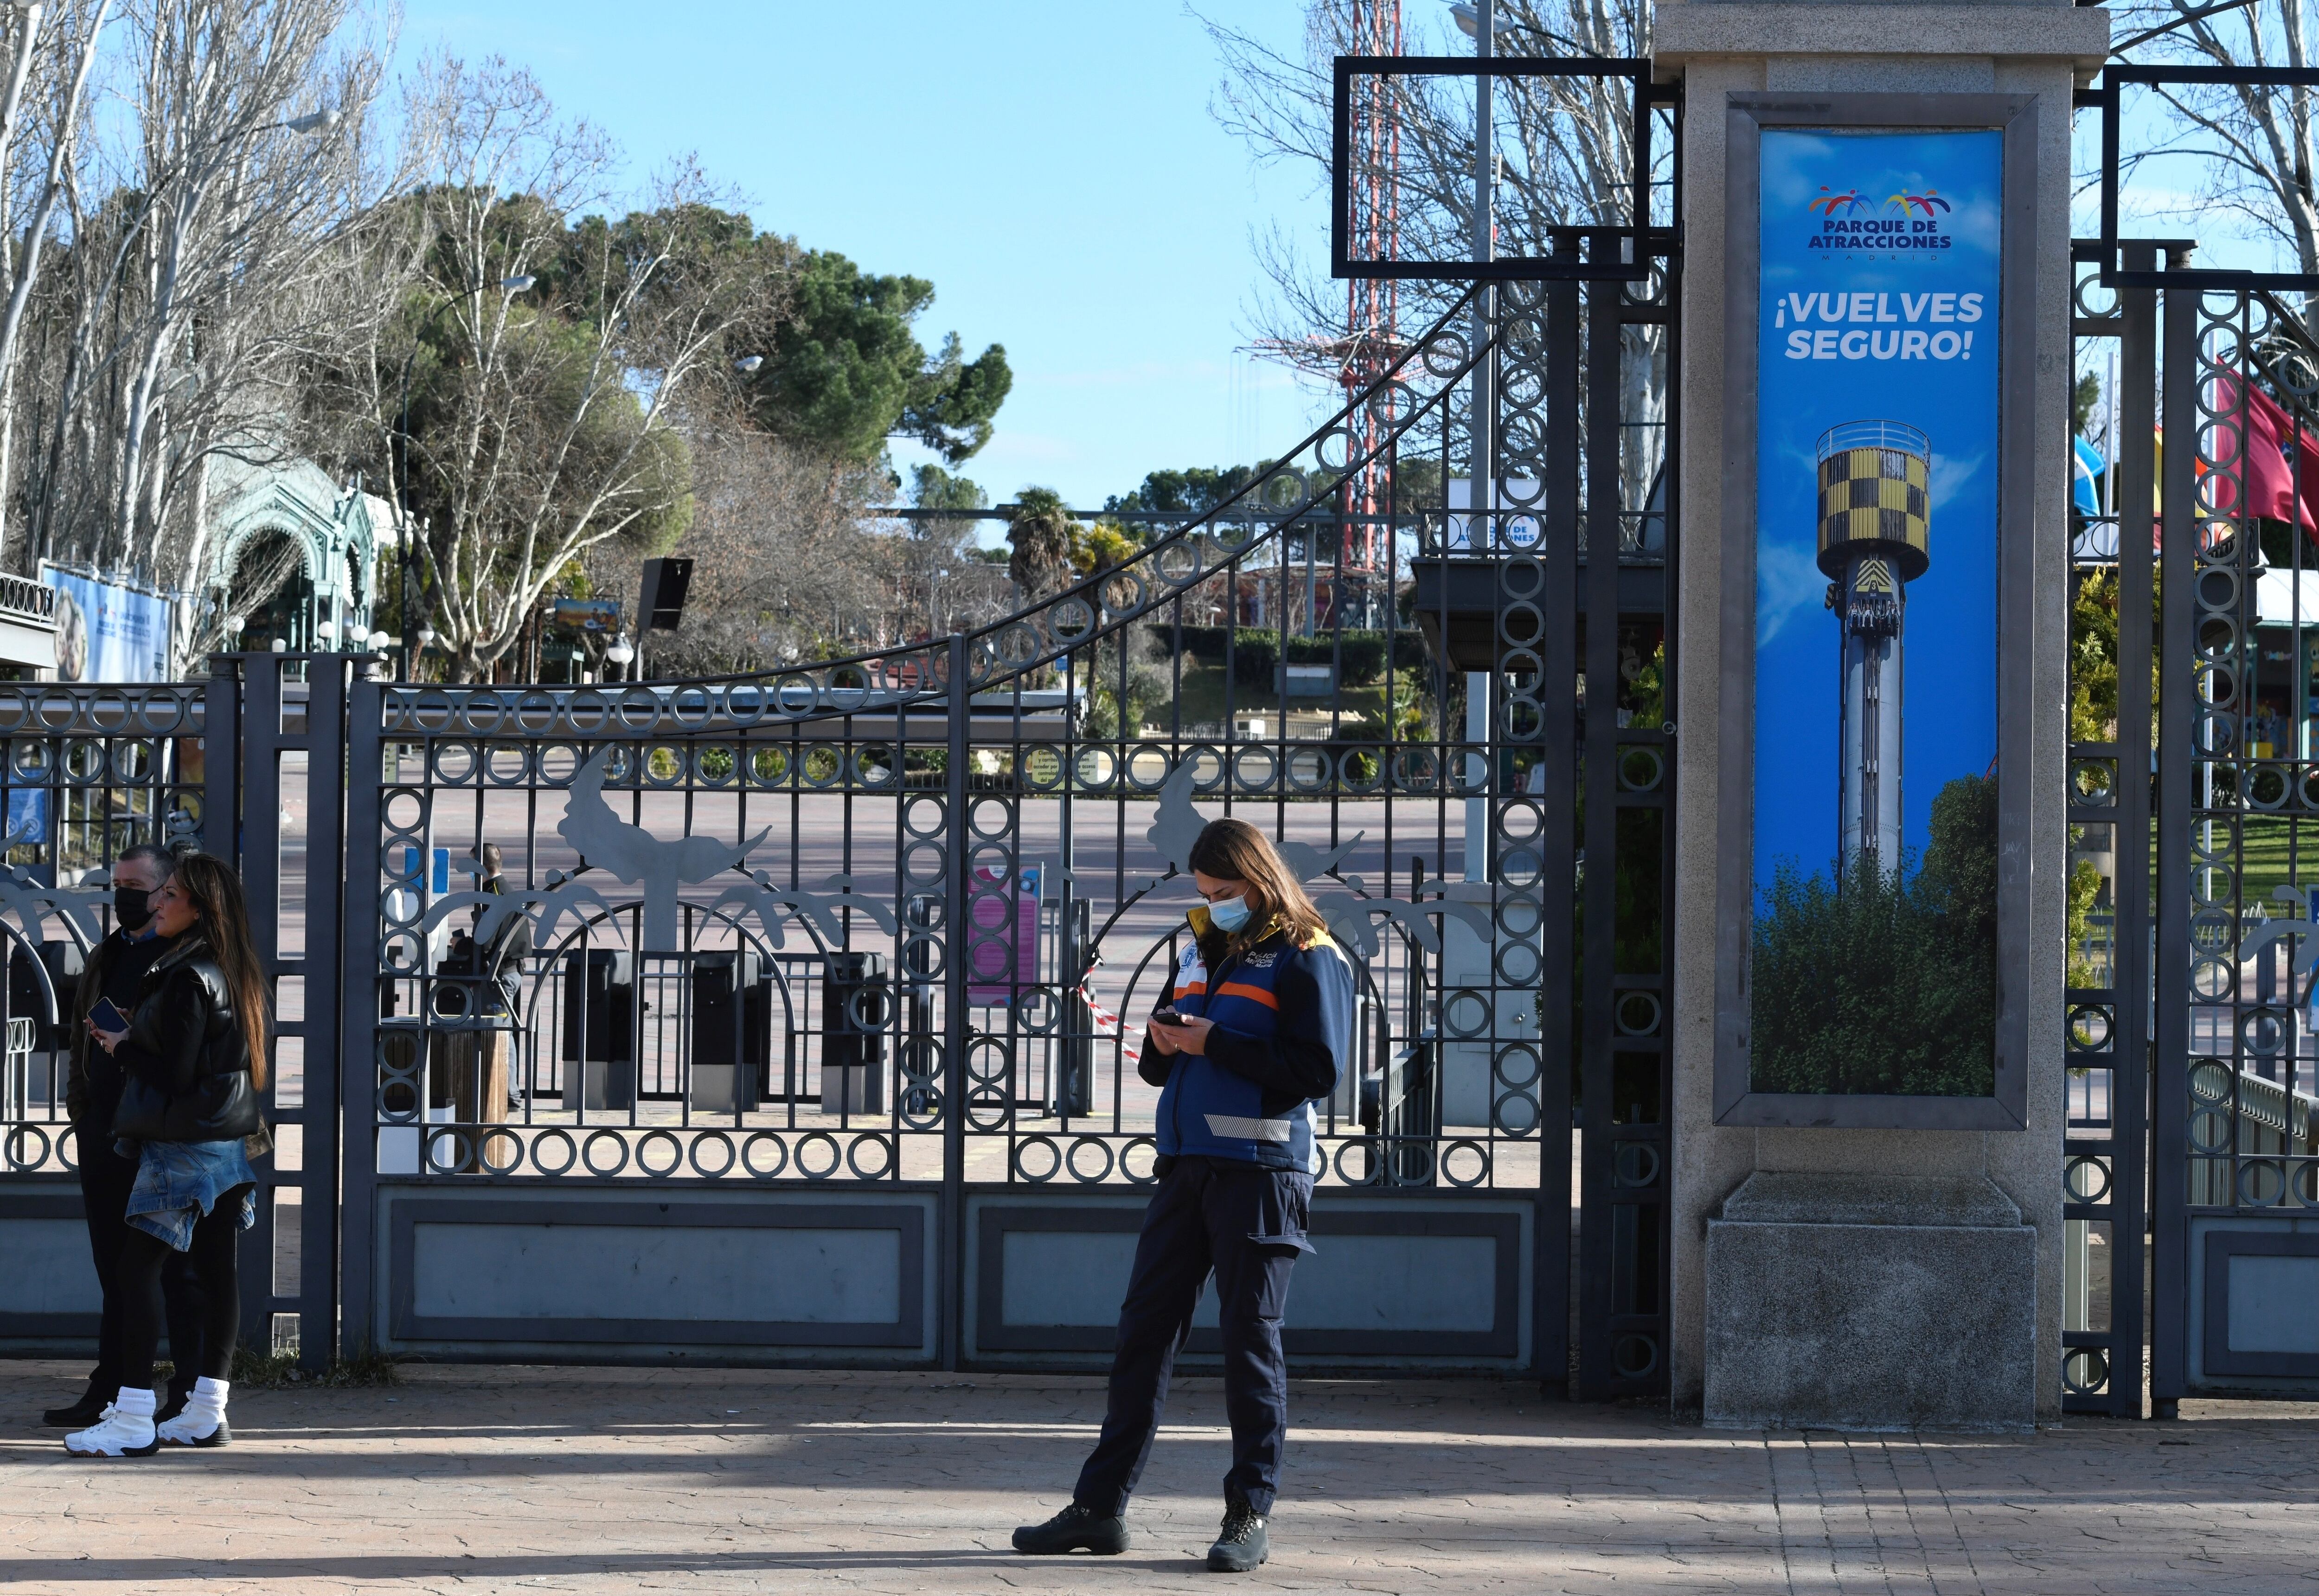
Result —
M1672 111L1642 63L1568 69ZM1646 151L1637 218L1672 206ZM1535 248L1238 496L967 635L0 690L9 804L102 818L26 852L9 936L100 934L37 871L172 827L250 885L283 1063L246 1323L308 1364L1102 1367L1141 1017L1236 813L1359 973L1292 1357L1663 1392L1679 255L1640 220ZM0 1244L74 1281L53 1054L9 1070ZM14 1274L0 1344L93 1332L93 1283L42 1316Z

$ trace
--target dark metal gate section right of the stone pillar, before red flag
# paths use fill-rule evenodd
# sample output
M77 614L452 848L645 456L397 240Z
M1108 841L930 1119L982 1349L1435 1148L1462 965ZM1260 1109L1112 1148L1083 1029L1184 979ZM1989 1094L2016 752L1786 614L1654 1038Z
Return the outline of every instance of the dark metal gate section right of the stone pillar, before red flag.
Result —
M2145 1353L2159 1413L2319 1397L2319 341L2191 250L2078 246L2120 445L2073 528L2064 1385L2120 1415Z

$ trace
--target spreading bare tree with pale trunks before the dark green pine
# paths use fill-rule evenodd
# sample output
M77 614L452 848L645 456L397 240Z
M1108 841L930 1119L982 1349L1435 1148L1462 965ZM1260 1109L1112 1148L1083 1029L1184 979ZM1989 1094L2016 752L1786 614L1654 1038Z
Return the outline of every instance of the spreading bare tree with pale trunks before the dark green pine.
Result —
M589 551L666 547L689 514L679 433L696 394L728 387L733 336L765 322L779 283L737 248L737 220L682 164L621 222L570 218L605 199L615 153L557 118L533 79L438 63L450 130L424 192L424 299L450 357L413 426L410 475L434 510L420 535L422 614L471 681Z

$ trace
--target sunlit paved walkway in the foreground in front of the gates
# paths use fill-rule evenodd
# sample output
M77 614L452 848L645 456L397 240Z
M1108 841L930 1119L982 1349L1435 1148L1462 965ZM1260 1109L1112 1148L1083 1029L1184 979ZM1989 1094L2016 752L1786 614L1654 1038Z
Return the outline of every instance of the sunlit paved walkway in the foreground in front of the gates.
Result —
M1227 1464L1183 1381L1115 1559L1025 1559L1102 1383L415 1369L237 1392L237 1445L74 1459L0 1364L0 1587L241 1591L1176 1591ZM1711 1432L1482 1381L1301 1381L1252 1591L2319 1591L2319 1411L2020 1436Z

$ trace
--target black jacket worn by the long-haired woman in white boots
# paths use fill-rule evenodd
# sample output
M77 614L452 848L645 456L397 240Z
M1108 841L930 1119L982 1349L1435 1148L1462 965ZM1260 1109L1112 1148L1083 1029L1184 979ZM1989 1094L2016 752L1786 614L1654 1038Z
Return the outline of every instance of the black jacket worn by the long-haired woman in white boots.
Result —
M209 940L188 931L146 971L130 1033L114 1135L132 1142L234 1142L262 1123L250 1045Z

